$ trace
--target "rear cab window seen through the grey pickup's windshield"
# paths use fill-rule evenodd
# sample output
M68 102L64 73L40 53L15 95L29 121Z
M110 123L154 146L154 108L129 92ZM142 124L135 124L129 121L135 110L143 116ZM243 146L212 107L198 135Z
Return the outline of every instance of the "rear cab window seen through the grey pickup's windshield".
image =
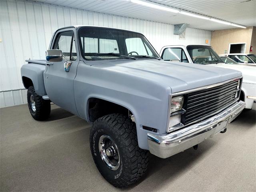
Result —
M81 37L83 50L85 53L117 53L119 48L115 39L98 39Z

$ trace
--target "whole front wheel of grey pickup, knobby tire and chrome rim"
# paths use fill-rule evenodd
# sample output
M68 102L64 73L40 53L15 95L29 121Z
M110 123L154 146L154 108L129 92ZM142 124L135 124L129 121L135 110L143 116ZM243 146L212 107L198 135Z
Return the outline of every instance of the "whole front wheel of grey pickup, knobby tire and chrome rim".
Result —
M139 148L136 125L128 116L110 114L96 120L90 132L94 162L110 184L124 188L148 167L148 151Z

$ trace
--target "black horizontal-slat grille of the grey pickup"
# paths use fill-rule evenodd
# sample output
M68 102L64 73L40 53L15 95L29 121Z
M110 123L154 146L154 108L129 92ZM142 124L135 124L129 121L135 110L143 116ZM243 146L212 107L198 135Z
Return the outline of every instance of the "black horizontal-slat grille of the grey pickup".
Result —
M238 80L226 84L188 93L184 125L200 120L232 104Z

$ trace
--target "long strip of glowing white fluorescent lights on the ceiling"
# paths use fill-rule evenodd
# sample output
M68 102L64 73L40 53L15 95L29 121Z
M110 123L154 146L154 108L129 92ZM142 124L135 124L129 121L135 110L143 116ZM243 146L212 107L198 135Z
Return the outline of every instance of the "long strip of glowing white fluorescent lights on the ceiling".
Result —
M225 24L225 25L232 25L232 26L240 27L240 28L244 28L244 29L246 28L245 26L242 26L242 25L233 24L233 23L230 23L230 22L210 18L210 17L207 17L207 16L202 16L202 15L199 15L199 14L194 14L194 13L191 13L191 12L174 9L174 8L171 8L170 6L164 6L164 5L161 5L161 4L158 4L158 3L147 2L146 0L130 0L130 1L133 2L133 3L136 3L136 4L151 7L151 8L156 8L156 9L169 11L169 12L173 12L173 13L180 13L182 15L187 15L187 16L196 17L196 18L200 18L200 19L210 20L210 21L213 21L213 22L217 22L217 23L221 23L221 24Z

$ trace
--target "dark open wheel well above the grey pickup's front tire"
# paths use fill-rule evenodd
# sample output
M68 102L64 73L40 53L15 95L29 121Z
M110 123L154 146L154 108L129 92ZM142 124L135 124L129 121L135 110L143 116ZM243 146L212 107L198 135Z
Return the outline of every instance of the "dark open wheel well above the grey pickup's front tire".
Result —
M90 98L88 101L88 115L90 122L94 122L98 118L112 114L112 113L119 113L124 115L132 115L132 112L130 112L127 108L106 101L99 98Z

